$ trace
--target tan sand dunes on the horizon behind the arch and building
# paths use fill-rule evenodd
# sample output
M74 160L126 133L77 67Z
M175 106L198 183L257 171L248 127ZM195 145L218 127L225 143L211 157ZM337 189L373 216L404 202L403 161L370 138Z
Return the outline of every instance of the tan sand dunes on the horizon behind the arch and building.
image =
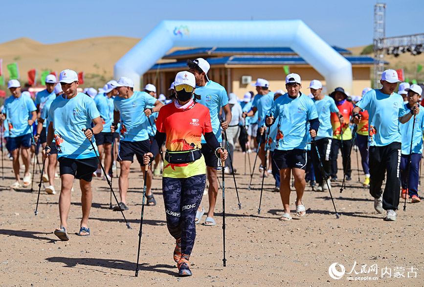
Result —
M31 69L38 69L39 74L42 70L60 72L63 69L72 69L111 79L113 65L139 41L137 38L110 36L44 45L29 38L19 38L0 44L0 58L3 59L6 79L9 76L6 65L18 63L22 83L27 81L27 72ZM347 49L357 55L364 47ZM179 48L172 50L176 49ZM385 60L390 62L390 68L404 68L406 76L410 79L416 77L417 64L424 66L424 54L413 56L404 53L397 58L386 55ZM420 72L418 78L424 78L424 71ZM103 85L104 83L98 84Z

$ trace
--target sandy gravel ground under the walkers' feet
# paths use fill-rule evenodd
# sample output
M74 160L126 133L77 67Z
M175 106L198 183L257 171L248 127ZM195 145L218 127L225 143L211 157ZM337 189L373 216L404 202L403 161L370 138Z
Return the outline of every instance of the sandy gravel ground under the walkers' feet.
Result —
M252 154L252 165L253 160ZM356 169L356 157L352 160ZM80 190L76 183L67 242L58 241L53 235L59 224L59 195L42 192L39 214L35 216L37 186L32 193L29 188L10 190L11 161L5 160L4 165L5 179L0 179L1 286L423 286L423 203L407 203L406 212L402 211L402 203L397 221L385 222L383 215L374 211L373 200L358 182L356 170L343 193L339 192L341 183L334 184L339 219L336 219L329 193L307 187L303 199L307 215L293 214L293 220L282 222L278 220L283 214L282 203L279 193L272 192L272 178L265 179L262 212L258 215L261 178L255 171L253 188L247 189L249 175L244 175L244 156L236 152L236 180L242 209L238 209L234 182L228 176L225 179L226 267L222 261L220 191L217 225L197 225L196 244L190 259L193 276L179 278L172 258L175 241L166 228L160 177L153 183L157 205L145 208L140 271L139 276L134 277L142 197L141 171L137 164L132 165L130 210L125 212L133 229L127 229L120 213L109 209L107 183L96 178L89 220L91 235L75 235L81 219ZM362 181L362 175L360 177ZM342 178L341 170L338 178ZM59 189L59 180L55 185ZM116 180L113 187L118 194ZM292 193L293 213L294 200ZM207 209L205 204L203 206ZM205 216L202 221L204 219ZM342 264L349 273L355 262L357 277L378 279L348 281L347 277L355 276L355 271L338 280L329 276L332 263ZM360 266L364 264L367 272L369 266L377 264L377 275L360 273ZM411 267L417 272L417 278L411 278L413 273L408 274ZM383 268L391 270L391 278L386 278L387 275L382 278ZM337 266L336 270L340 271L341 267ZM404 277L393 278L396 270Z

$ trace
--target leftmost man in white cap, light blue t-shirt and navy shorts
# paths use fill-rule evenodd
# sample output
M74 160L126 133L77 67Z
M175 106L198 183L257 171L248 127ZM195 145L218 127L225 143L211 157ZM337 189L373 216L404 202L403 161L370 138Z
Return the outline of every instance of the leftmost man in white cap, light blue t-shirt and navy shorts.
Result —
M13 189L22 188L19 175L19 150L22 149L22 162L25 165L23 186L31 184L29 172L30 157L28 149L31 146L30 126L37 120L37 108L30 97L22 96L21 83L18 80L10 80L8 87L12 96L4 101L2 120L6 120L9 126L9 137L6 147L13 158L13 170L16 182L11 186ZM28 119L28 115L31 118Z

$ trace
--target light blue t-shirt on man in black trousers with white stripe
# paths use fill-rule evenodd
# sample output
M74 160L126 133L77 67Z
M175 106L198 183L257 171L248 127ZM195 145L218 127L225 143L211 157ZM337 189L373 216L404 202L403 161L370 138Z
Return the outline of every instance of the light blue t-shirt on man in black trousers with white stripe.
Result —
M386 95L379 90L371 90L356 105L361 110L367 110L369 114L369 145L384 146L393 142L401 143L399 118L408 113L401 95L396 93Z

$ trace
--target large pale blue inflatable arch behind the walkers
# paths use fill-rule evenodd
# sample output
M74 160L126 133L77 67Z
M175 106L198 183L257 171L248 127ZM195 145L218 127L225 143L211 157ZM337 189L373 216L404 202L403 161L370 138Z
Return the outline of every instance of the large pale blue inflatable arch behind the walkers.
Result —
M328 91L352 91L351 63L301 20L164 20L116 62L114 77L132 78L139 90L140 77L172 47L290 47L325 78Z

